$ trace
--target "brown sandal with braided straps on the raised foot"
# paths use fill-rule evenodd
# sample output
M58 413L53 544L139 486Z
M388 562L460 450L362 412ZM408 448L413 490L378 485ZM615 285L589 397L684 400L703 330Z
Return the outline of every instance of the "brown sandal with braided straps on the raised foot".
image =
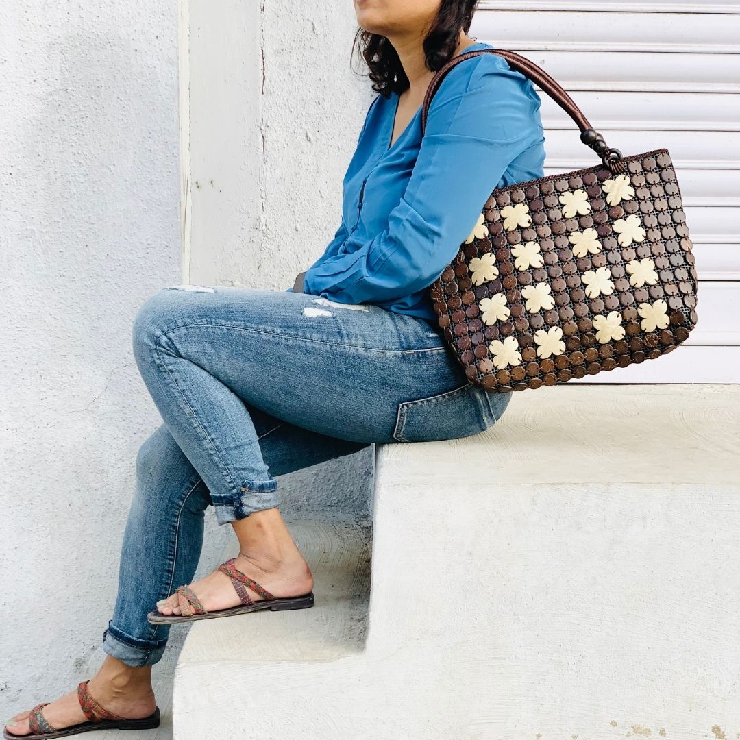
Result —
M234 562L236 558L229 558L226 562L222 562L218 566L218 570L226 573L232 579L232 584L236 592L239 594L241 604L238 606L232 606L228 609L218 609L216 611L208 611L201 604L198 596L192 592L192 589L187 585L178 586L175 588L175 593L178 594L180 607L180 614L161 614L159 610L155 609L147 614L147 620L152 625L173 625L178 622L197 622L198 619L216 619L219 616L231 616L232 614L243 614L249 611L258 611L260 609L269 609L270 611L286 611L289 609L307 609L314 605L314 592L304 593L302 596L290 596L287 599L280 599L277 596L273 596L272 593L266 591L265 588L260 586L258 582L249 578L242 573L238 568L235 568ZM244 586L249 586L252 591L259 593L263 597L261 601L255 602L249 593L246 593Z

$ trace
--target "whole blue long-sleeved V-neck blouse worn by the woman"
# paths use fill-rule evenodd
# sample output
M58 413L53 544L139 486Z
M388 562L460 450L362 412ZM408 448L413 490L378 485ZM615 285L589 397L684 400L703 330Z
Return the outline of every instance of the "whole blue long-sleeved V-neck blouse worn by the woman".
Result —
M494 48L477 42L470 50ZM544 176L540 99L497 54L454 67L388 147L399 95L369 105L343 180L342 221L303 291L436 320L428 286L454 259L494 187ZM289 288L292 290L292 288Z

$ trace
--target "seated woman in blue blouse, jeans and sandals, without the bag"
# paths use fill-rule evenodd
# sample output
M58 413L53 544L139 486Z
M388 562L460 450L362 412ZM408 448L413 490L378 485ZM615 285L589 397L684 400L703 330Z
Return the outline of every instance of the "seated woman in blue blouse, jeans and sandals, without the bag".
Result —
M467 36L475 4L354 0L380 94L344 178L339 229L293 289L176 286L141 307L135 358L164 424L136 460L107 656L90 682L16 715L6 738L155 727L150 674L170 624L313 604L274 476L371 443L466 437L505 410L509 394L467 382L428 295L491 190L542 177L539 96L498 55L451 70L422 140L434 71L491 47ZM239 554L189 583L209 504Z

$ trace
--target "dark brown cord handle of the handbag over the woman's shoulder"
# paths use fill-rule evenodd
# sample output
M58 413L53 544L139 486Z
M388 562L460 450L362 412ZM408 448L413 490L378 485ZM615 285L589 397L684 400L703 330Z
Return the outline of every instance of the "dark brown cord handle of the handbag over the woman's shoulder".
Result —
M583 115L583 112L573 102L573 98L568 95L568 92L565 92L560 84L548 75L542 67L535 64L534 61L522 56L521 54L505 49L477 49L475 51L466 51L452 57L440 70L437 70L437 73L433 78L431 78L429 87L424 95L424 103L421 112L422 135L424 135L426 127L426 118L431 104L431 98L434 97L434 93L437 92L437 89L440 87L440 84L442 84L447 73L454 67L457 67L460 62L465 61L465 59L469 59L480 54L497 54L502 56L513 70L517 70L517 72L522 73L522 75L525 75L525 77L539 85L542 90L547 92L547 94L550 95L550 97L553 98L553 100L563 110L565 110L571 118L573 118L576 126L579 127L581 131L581 141L601 156L602 162L608 166L610 172L616 175L618 172L625 171L625 166L622 163L622 152L620 152L619 149L613 149L607 146L602 135L591 127L591 124L588 122L588 118Z

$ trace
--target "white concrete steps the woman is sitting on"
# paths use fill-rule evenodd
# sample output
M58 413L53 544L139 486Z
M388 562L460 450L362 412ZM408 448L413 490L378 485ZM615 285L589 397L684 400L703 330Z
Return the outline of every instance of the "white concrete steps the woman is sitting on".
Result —
M739 438L738 386L582 385L377 445L369 603L296 523L316 607L193 625L175 739L735 737Z

